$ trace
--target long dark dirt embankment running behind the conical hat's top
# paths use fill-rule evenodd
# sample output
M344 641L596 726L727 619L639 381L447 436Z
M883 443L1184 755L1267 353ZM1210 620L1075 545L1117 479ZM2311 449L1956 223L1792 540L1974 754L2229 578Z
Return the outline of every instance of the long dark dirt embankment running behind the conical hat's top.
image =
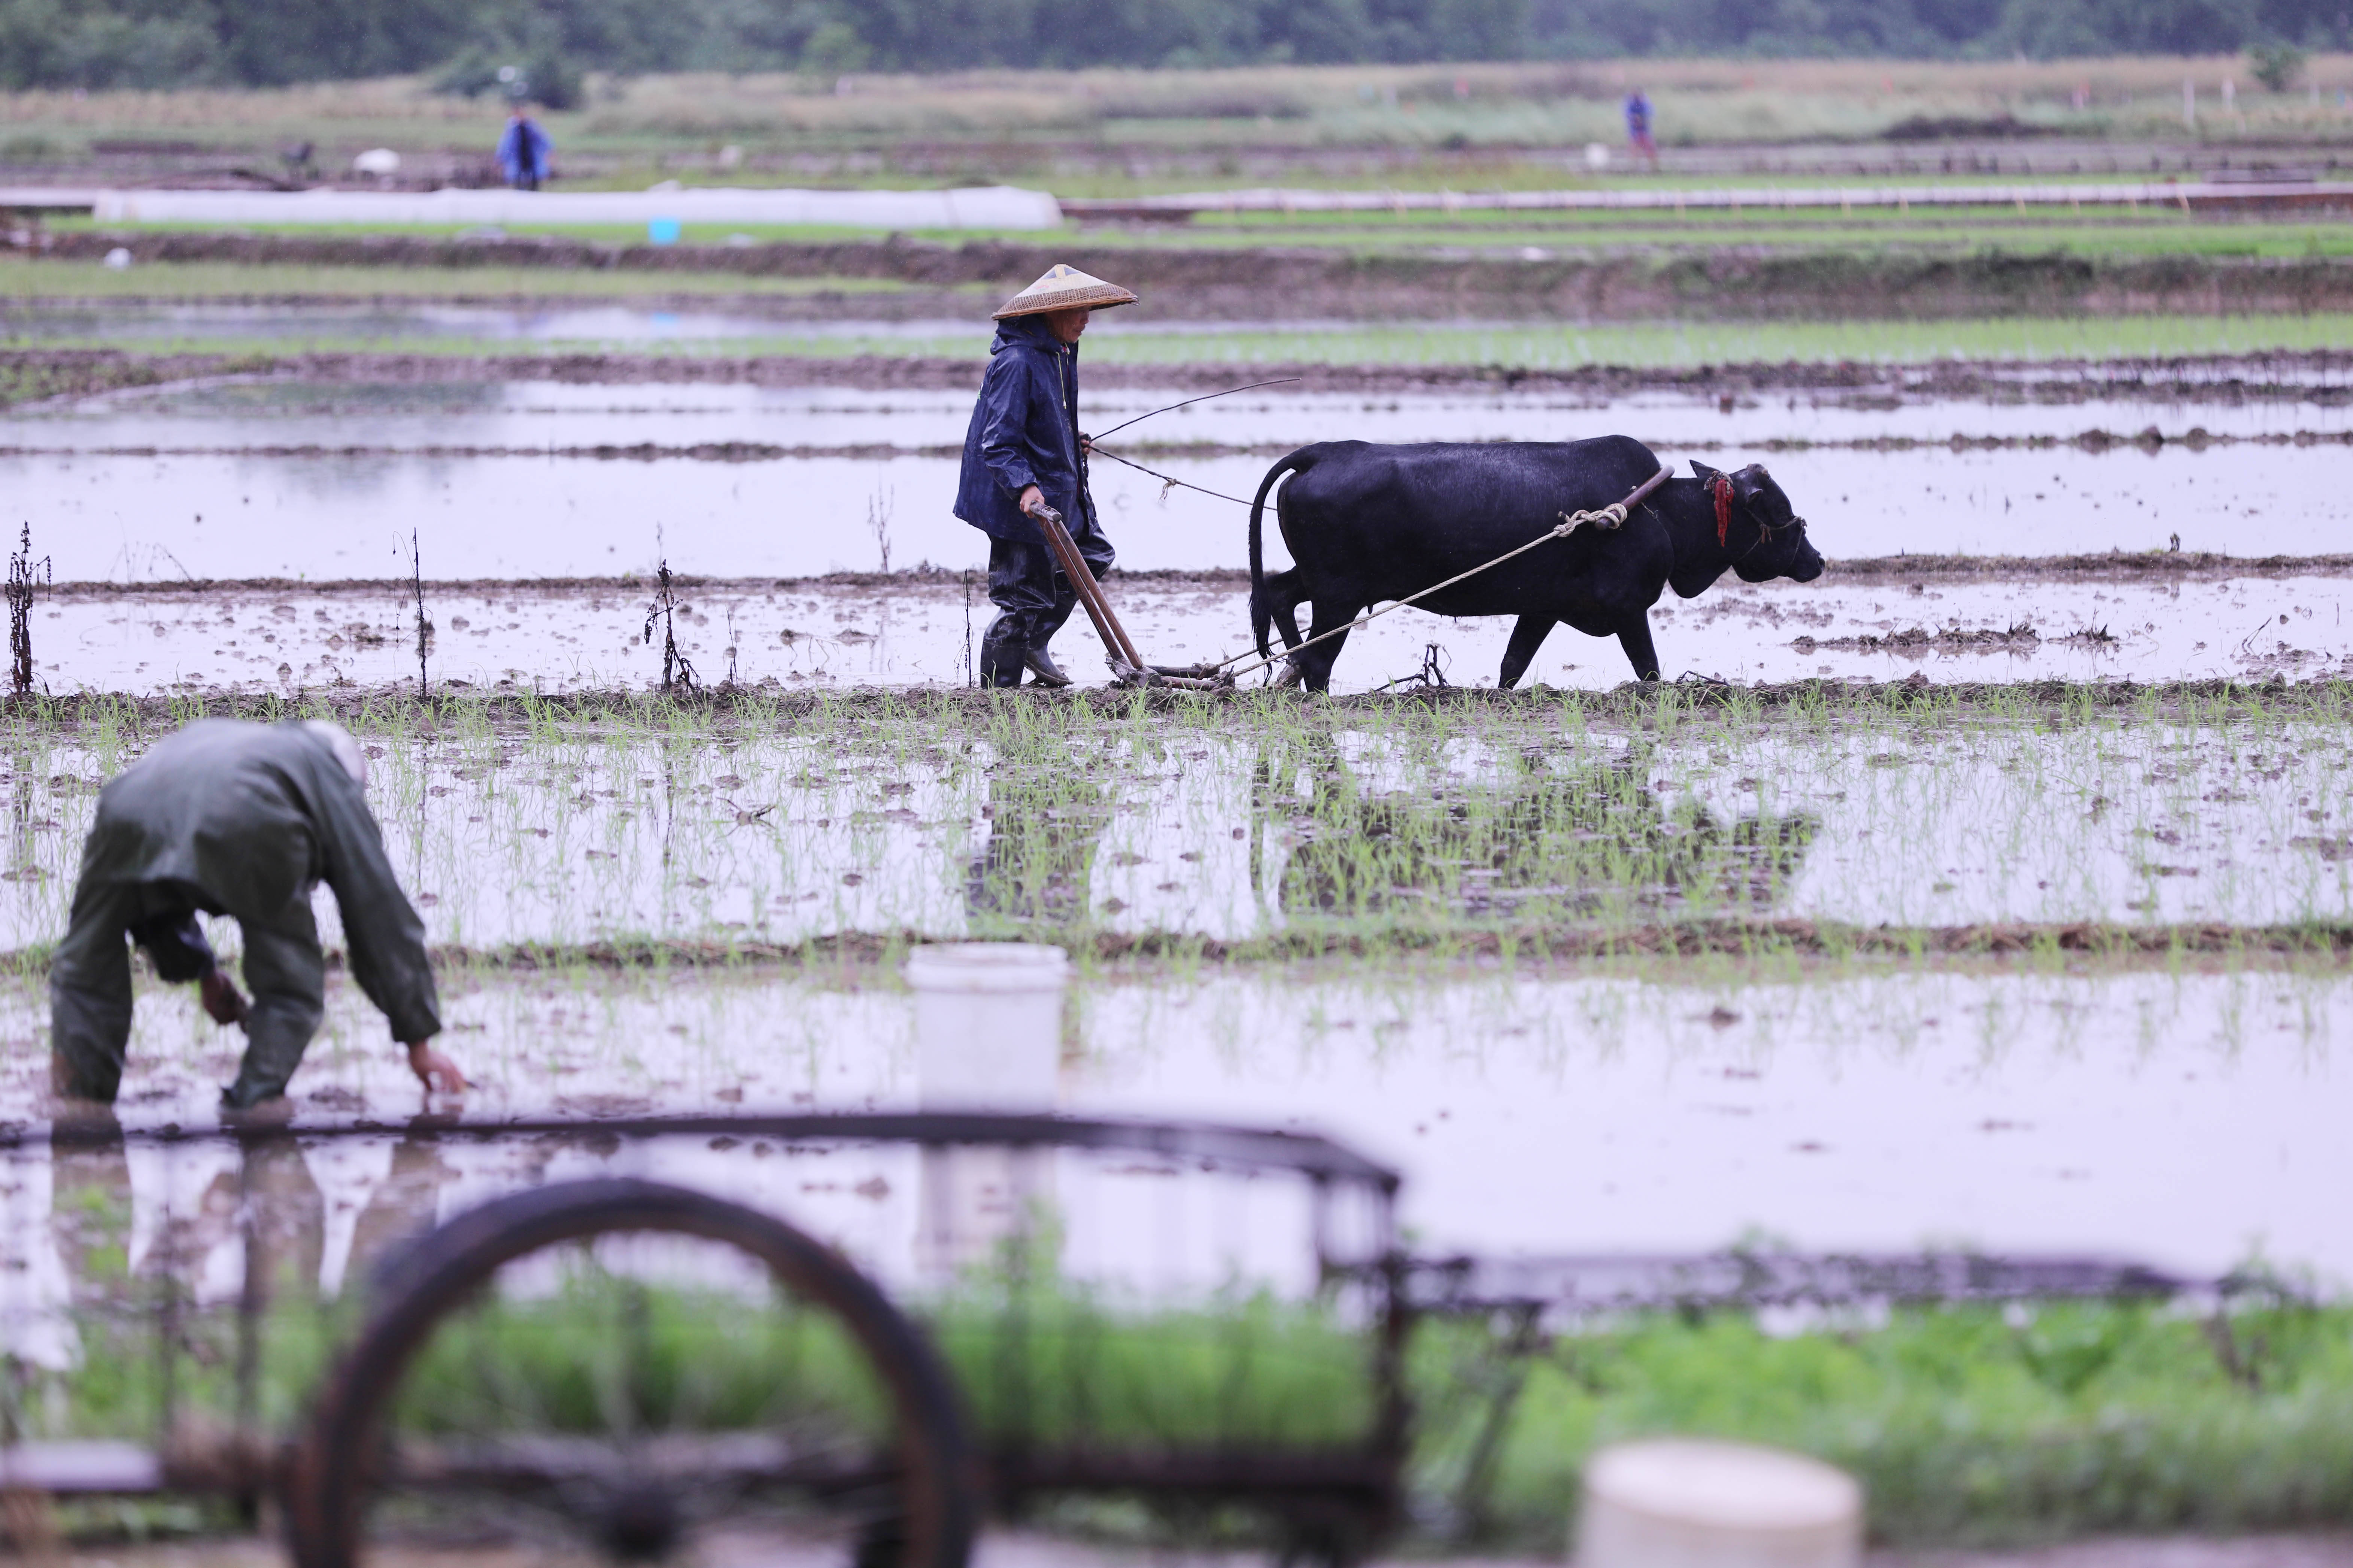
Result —
M1068 261L1144 294L1139 315L1325 320L1920 320L1986 315L2231 315L2353 310L2353 263L2212 256L1925 254L1351 254L1341 249L1151 249L929 244L607 244L569 237L73 233L49 256L301 266L560 268L675 275L899 282L913 289L1019 287ZM1280 306L1275 306L1280 301ZM760 310L899 315L944 299L762 296ZM969 301L960 301L969 303Z

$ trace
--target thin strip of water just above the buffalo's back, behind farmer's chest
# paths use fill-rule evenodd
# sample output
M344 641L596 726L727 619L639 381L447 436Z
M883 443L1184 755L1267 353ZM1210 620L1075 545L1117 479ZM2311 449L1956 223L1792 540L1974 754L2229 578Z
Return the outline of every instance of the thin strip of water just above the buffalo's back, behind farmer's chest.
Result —
M1247 381L1240 376L1238 381ZM1089 428L1111 430L1198 397L1186 388L1087 393ZM593 447L600 442L765 442L776 447L960 447L972 418L967 390L320 383L273 376L141 388L80 402L16 409L0 430L28 447ZM287 421L294 421L292 425ZM1195 402L1134 425L1129 442L1301 447L1367 442L1548 442L1626 433L1661 444L1760 442L1948 442L1955 435L2040 440L2106 430L2158 430L2186 440L2337 435L2353 428L2341 397L2068 397L2066 402L1951 400L1901 388L1866 393L1741 393L1729 407L1706 393L1642 390L1621 397L1544 390L1452 388L1445 393L1245 390Z

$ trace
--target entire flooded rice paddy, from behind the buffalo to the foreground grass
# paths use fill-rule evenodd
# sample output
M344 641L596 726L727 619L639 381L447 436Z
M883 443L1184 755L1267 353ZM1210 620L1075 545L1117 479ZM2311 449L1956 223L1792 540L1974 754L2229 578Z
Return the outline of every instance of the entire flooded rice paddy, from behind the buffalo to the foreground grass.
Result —
M706 329L732 331L664 327ZM1193 390L1111 390L1089 423ZM1275 388L1122 440L1247 496L1311 440L1631 433L1675 463L1765 461L1833 557L2337 552L2353 404L2320 381L2242 390ZM358 710L372 804L449 959L468 1117L920 1105L892 969L845 959L828 983L772 950L1026 938L1087 973L1049 1072L1059 1107L1362 1143L1407 1171L1426 1251L1769 1234L2353 1267L2334 1213L2353 990L2339 961L2254 957L2353 924L2348 717L2339 686L2304 684L2353 675L2353 576L2332 562L2162 578L1880 562L1657 611L1671 675L1824 682L1769 708L1581 696L1628 670L1569 630L1529 672L1551 691L1511 708L991 705L946 691L991 616L967 576L979 536L946 512L967 411L967 393L859 386L226 378L14 409L0 482L75 583L33 616L47 691ZM1165 574L1111 578L1148 654L1240 654L1242 508L1113 463L1096 494L1122 564ZM452 698L431 717L400 696L412 531L426 670ZM713 578L685 590L675 635L734 705L534 703L654 682L661 559ZM812 581L831 571L892 576ZM1351 639L1337 689L1492 682L1506 632L1405 611ZM1082 618L1056 654L1094 677ZM2297 684L2118 705L2024 691L2273 677ZM1842 686L1922 679L1918 708ZM1946 701L1953 684L1993 693ZM92 703L5 736L0 950L26 966L64 929L96 788L155 733L153 705ZM339 940L332 898L320 914ZM1711 922L1915 933L1920 952L1814 964L1760 936L1739 964L1544 957ZM1939 931L2075 924L2245 952L2073 971L2057 947L2012 969L1920 957ZM548 969L478 961L518 947ZM588 961L602 947L727 961L614 973ZM209 1119L238 1039L153 987L136 1027L125 1114ZM16 1041L0 1119L38 1119L38 980L0 987L0 1030ZM339 983L296 1110L386 1133L304 1152L334 1215L322 1279L393 1222L367 1215L414 1227L518 1180L419 1154L398 1131L414 1093ZM779 1159L762 1192L887 1262L915 1178L875 1161ZM122 1182L155 1234L167 1175ZM9 1201L64 1204L33 1178Z

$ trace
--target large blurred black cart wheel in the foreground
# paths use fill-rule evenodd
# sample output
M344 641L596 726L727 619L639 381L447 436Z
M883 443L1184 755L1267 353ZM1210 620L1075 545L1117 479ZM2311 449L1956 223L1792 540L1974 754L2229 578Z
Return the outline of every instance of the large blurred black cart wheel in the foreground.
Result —
M520 1192L412 1244L285 1488L299 1568L965 1568L979 1512L939 1356L873 1281L642 1180Z

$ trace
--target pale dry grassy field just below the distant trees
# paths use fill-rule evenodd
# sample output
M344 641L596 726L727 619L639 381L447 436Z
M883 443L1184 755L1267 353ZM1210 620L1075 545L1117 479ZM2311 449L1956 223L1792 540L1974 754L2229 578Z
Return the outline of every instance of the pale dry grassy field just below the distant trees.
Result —
M1852 165L1854 143L1878 141L1906 122L1944 122L1960 134L1972 125L1993 127L1998 155L2012 160L2019 153L2005 143L2017 132L2071 139L2054 160L2033 150L2045 167L2057 162L2059 169L2068 160L2097 169L2132 153L2146 167L2153 139L2191 146L2344 139L2346 110L2334 92L2271 94L2238 71L2235 99L2224 106L2226 73L2224 61L2162 56L1640 66L1671 165L1722 143L1814 143ZM1134 183L1132 165L1122 162L1136 153L1151 160L1188 150L1212 158L1405 153L1438 162L1539 150L1560 167L1562 153L1581 165L1588 141L1621 141L1619 99L1631 82L1619 75L1584 61L1532 61L591 78L581 106L551 115L551 129L558 155L584 160L588 174L671 165L765 183L784 183L779 176L795 172L795 160L847 153L882 153L868 160L868 176L906 176L939 162L969 167L979 153L984 162L1047 169L1066 162L1085 174L1096 174L1101 162L1108 165L1101 174L1118 169L1120 183ZM2195 127L2184 125L2184 75L2207 99ZM2348 75L2344 56L2320 54L2308 66L2308 80L2329 89ZM341 158L376 143L487 158L499 108L487 99L435 94L424 78L384 78L266 92L24 92L9 99L5 118L9 158L28 165L89 158L96 143L118 146L118 160L148 162L238 150L273 155L294 134L311 134ZM720 162L722 146L739 148L732 165ZM1939 167L1934 148L1899 150L1915 165ZM1445 179L1445 172L1433 174Z

